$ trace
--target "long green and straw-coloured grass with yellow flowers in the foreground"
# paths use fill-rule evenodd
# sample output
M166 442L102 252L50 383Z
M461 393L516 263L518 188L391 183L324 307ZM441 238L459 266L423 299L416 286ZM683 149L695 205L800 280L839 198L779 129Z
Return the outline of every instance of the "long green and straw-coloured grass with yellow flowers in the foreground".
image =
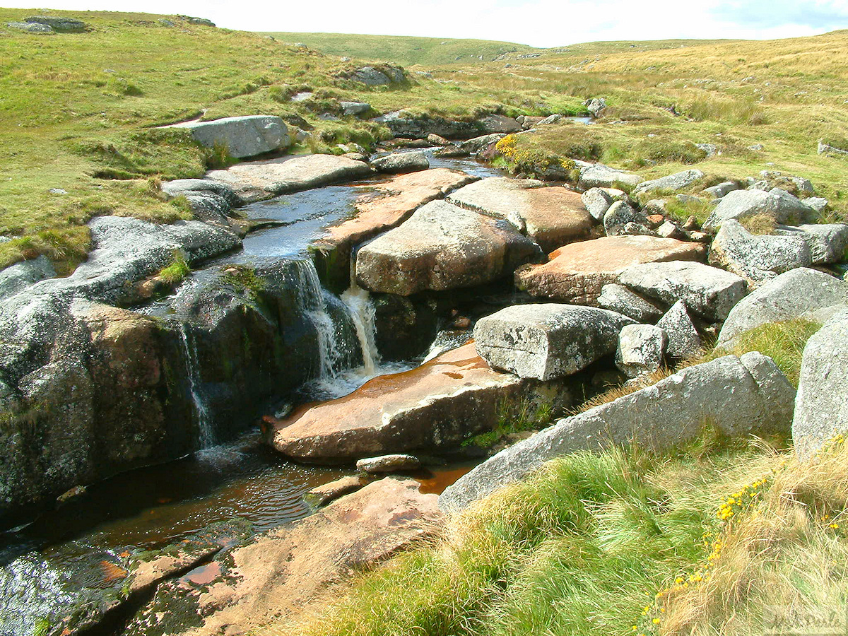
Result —
M759 328L738 352L773 354L796 378L815 328ZM801 465L783 440L709 426L663 456L567 455L472 505L437 543L259 633L762 633L780 612L844 606L846 471L842 438Z

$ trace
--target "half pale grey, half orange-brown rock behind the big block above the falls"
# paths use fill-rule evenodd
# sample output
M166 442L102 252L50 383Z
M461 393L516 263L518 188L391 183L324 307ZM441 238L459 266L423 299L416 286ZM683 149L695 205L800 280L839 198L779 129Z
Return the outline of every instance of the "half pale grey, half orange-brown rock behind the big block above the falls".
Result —
M589 237L594 225L577 192L533 179L489 177L453 192L448 201L510 221L545 252Z

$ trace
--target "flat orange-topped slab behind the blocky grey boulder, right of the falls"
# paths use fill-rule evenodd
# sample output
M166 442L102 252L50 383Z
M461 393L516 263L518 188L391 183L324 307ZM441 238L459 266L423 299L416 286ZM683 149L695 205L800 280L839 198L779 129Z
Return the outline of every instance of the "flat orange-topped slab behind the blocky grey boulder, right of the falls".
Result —
M617 282L619 272L630 265L705 257L706 248L700 243L674 238L603 237L555 250L548 263L517 271L516 284L533 296L596 304L604 285Z

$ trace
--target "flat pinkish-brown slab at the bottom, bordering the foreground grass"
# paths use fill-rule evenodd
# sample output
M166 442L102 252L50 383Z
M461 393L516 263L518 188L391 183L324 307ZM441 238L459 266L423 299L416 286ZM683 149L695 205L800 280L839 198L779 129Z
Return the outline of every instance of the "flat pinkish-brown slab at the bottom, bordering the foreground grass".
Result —
M314 515L227 550L159 585L127 636L212 636L295 616L342 583L441 527L437 497L387 477Z

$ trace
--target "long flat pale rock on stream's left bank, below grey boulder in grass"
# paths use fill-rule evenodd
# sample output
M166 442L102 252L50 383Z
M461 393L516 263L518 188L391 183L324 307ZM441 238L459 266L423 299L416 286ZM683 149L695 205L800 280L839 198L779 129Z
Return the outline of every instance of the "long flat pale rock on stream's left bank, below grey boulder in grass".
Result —
M206 178L229 184L243 201L251 202L370 174L371 168L363 161L332 154L307 154L246 161L226 170L210 170Z

